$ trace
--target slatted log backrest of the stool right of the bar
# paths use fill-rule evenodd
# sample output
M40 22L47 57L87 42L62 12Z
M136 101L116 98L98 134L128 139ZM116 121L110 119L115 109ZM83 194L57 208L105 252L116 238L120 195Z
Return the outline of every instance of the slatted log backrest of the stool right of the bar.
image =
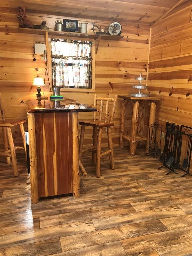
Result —
M115 114L115 107L117 104L117 98L118 96L115 95L114 98L102 98L97 97L97 94L94 94L94 101L93 105L95 108L97 108L97 102L100 101L100 108L99 108L99 121L102 121L102 115L103 115L103 105L104 102L106 102L105 106L105 115L104 115L104 122L112 122ZM113 102L111 112L109 112L109 102ZM97 118L97 112L93 112L93 121L96 121Z

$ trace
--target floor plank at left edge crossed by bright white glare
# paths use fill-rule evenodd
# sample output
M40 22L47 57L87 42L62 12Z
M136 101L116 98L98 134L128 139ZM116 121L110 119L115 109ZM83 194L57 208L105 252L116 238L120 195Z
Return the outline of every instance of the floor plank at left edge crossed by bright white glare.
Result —
M15 221L15 222L8 222L0 223L0 235L6 235L21 231L33 230L39 228L39 218L29 219L25 221Z

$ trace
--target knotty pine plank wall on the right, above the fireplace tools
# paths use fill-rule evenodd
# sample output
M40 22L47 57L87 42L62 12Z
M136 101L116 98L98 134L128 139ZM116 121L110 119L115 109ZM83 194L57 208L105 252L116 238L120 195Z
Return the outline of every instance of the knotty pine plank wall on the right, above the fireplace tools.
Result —
M152 26L148 89L162 98L157 102L156 121L164 132L166 121L192 126L191 40L191 1ZM181 162L187 151L184 144Z

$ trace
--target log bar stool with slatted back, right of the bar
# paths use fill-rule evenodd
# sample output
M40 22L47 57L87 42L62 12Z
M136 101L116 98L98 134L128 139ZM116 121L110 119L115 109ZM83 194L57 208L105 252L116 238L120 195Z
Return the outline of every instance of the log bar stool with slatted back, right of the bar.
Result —
M100 163L101 157L109 154L110 160L110 168L112 170L115 169L114 165L114 156L113 156L113 142L111 137L111 126L114 125L113 118L115 114L115 107L117 103L118 96L116 95L113 98L100 98L97 97L97 94L94 94L94 107L97 108L97 102L100 101L100 110L99 110L99 119L96 119L97 112L93 112L93 121L82 122L79 121L81 126L81 135L80 135L80 142L79 142L79 167L83 174L83 176L87 176L84 166L81 162L82 152L90 151L92 152L92 162L96 164L96 177L100 177ZM103 103L106 101L105 107L105 114L104 120L102 121L102 114L103 114ZM109 102L113 102L111 114L109 114ZM86 148L83 150L83 139L85 133L85 126L92 126L93 127L93 146ZM102 128L107 128L107 137L108 137L108 145L109 149L105 152L101 151L101 137L102 137Z

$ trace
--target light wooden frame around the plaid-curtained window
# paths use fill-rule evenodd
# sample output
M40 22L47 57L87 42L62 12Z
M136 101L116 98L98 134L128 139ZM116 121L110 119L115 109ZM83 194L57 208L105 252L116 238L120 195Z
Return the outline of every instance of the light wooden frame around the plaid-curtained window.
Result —
M50 86L52 89L52 59L51 59L51 38L54 39L68 39L68 40L79 40L79 41L90 41L92 42L92 51L91 51L91 57L92 57L92 80L91 80L91 88L61 88L60 92L94 92L95 91L95 40L89 40L89 38L75 38L75 37L65 37L65 36L49 36L48 37L48 67L49 67L49 81Z

